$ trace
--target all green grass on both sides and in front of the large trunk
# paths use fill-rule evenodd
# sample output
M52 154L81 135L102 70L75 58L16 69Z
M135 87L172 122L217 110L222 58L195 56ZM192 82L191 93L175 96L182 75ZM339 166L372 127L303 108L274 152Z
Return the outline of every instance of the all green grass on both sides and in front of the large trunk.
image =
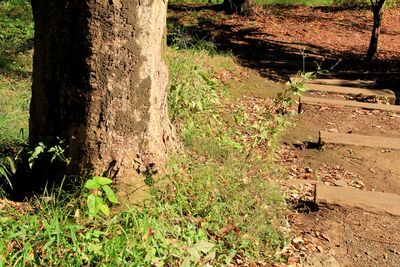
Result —
M0 10L10 11L0 12L1 23L12 24L10 14L26 20L3 42L24 44L32 37L25 4L0 1ZM283 125L262 109L249 120L237 120L247 117L246 108L230 110L228 91L214 78L235 70L233 58L216 54L210 43L196 41L189 48L174 46L166 55L170 115L184 150L153 177L149 197L92 219L89 192L79 186L73 195L54 189L26 203L0 200L0 266L227 266L283 260L276 251L288 240L286 203L269 182L269 159ZM27 128L32 51L0 49L8 51L0 53L6 66L0 71L0 144L16 146L26 141L20 129Z

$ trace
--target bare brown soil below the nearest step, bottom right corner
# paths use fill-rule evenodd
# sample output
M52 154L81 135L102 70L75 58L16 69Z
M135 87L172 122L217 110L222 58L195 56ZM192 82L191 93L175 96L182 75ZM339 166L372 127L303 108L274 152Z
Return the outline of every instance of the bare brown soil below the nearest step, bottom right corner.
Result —
M400 262L396 217L324 207L309 214L294 213L291 223L295 238L302 240L292 244L303 258L319 252L333 255L342 266L398 266Z

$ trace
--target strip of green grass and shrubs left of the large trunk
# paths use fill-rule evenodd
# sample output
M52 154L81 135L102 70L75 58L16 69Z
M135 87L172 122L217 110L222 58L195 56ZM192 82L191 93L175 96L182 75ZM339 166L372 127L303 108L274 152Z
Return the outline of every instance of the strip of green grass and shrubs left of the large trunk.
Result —
M33 22L26 0L0 1L0 144L26 142Z

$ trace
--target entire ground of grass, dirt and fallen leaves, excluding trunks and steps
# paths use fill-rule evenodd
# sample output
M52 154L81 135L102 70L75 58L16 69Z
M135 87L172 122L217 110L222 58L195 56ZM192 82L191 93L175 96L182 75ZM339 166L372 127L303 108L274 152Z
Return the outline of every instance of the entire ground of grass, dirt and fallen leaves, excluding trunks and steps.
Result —
M87 192L67 204L53 195L32 205L1 199L0 265L398 266L398 217L316 205L314 194L316 183L400 194L400 151L316 146L320 130L400 138L400 114L306 104L296 114L296 106L280 109L287 103L277 94L298 71L335 66L323 78L373 80L399 103L400 9L385 13L373 64L364 61L369 10L270 7L247 18L210 6L168 12L170 113L187 150L171 162L172 182L152 188L149 210L104 221L85 220ZM23 30L24 45L0 46L0 140L7 146L26 139L33 24L30 17L21 24L26 29L4 29Z

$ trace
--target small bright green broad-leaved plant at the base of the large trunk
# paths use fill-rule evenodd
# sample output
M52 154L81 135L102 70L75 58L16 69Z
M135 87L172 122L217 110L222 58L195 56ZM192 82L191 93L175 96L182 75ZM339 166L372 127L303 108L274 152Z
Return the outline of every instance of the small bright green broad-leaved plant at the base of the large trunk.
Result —
M110 215L110 209L105 200L112 204L119 203L114 191L109 186L111 183L111 179L100 176L93 176L86 181L84 187L90 190L86 201L90 216L97 216L100 211L106 216ZM105 198L103 194L105 194Z

